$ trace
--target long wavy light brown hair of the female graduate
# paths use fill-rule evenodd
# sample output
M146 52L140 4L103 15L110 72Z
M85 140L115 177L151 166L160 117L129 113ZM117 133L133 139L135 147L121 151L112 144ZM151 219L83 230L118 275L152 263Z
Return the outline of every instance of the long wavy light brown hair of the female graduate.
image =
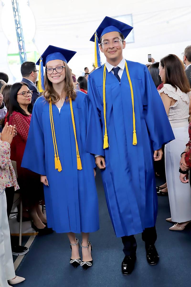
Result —
M66 93L66 101L69 100L69 98L71 98L72 100L75 100L76 98L76 91L74 89L74 83L72 80L72 74L70 71L70 68L68 67L68 65L66 64L66 62L64 62L64 66L65 66L65 86L64 86L64 91ZM56 102L58 102L60 100L60 95L54 90L53 86L52 86L52 82L50 82L50 80L47 77L46 71L44 74L44 87L45 90L43 92L43 95L45 97L45 99L49 102L50 98L53 104L55 104Z

